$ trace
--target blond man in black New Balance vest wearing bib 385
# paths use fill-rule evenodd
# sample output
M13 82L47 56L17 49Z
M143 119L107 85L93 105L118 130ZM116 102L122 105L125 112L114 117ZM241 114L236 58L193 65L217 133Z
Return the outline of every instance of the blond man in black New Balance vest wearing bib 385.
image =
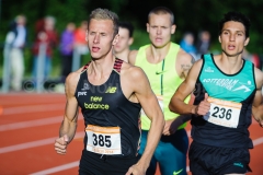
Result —
M79 175L144 175L164 126L144 71L113 55L117 24L115 13L106 9L92 11L87 31L92 61L66 80L67 104L55 150L66 153L76 133L80 106L85 137ZM151 129L138 161L141 107L151 120Z

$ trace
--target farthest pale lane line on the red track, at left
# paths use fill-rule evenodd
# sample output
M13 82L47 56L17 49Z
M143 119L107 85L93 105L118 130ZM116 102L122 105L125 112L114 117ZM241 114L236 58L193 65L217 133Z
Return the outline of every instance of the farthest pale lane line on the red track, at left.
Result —
M61 110L64 108L65 108L64 103L30 105L30 106L19 106L19 107L7 107L7 108L2 108L2 114L1 115L14 115L14 114L21 114L21 113Z

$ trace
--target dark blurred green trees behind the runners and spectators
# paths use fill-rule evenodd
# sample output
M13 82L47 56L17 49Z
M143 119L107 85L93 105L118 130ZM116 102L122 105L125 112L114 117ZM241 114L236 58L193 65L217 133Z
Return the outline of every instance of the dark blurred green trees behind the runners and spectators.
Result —
M80 22L88 19L95 8L106 8L119 15L122 21L130 21L135 25L135 42L132 49L149 42L146 33L148 12L158 5L170 8L175 15L176 32L172 40L179 43L185 32L192 32L197 38L201 30L207 30L211 34L211 51L220 50L218 45L217 22L228 11L240 11L247 14L251 21L251 39L247 47L250 52L263 54L263 14L261 8L263 0L0 0L0 49L11 20L18 14L24 14L27 19L30 33L28 47L25 50L26 74L31 74L32 54L30 46L35 36L35 23L37 20L53 15L56 18L56 30L60 35L66 24L70 21L79 26ZM0 55L0 69L2 67L2 54ZM89 59L89 58L87 58ZM85 62L87 60L83 60ZM2 69L0 70L2 74ZM58 77L60 71L60 56L55 48L53 58L53 77Z

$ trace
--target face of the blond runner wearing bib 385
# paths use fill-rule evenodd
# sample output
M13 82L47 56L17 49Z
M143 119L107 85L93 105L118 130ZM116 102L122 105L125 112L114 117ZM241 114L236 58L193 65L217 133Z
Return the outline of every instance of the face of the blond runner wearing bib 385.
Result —
M111 20L91 20L87 33L88 46L93 59L105 57L116 44Z

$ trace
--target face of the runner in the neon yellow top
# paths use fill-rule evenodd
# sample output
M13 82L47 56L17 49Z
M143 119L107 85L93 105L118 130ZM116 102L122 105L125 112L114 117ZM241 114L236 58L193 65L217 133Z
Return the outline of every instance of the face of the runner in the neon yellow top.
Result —
M170 14L151 14L147 23L147 32L156 47L163 47L170 42L171 34L175 32L175 25L171 24Z

